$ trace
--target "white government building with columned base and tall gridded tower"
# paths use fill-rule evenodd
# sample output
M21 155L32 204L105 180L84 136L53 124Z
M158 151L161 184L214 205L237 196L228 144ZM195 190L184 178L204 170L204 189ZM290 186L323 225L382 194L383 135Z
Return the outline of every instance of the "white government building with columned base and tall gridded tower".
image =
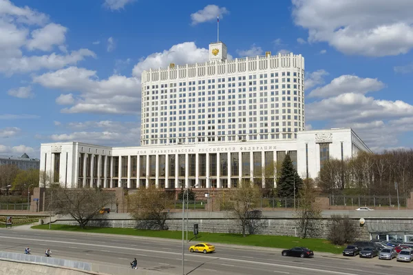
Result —
M350 128L304 130L301 54L226 57L211 43L206 63L142 72L141 146L42 143L40 169L64 187L268 187L286 154L315 178L329 158L370 152Z

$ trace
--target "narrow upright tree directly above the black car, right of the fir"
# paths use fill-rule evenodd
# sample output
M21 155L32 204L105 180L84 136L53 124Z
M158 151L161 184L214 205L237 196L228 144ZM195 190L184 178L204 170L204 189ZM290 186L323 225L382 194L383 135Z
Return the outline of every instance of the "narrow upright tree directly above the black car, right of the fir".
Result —
M315 201L316 197L313 179L305 179L299 190L298 208L295 212L301 238L316 237L321 231L321 208Z

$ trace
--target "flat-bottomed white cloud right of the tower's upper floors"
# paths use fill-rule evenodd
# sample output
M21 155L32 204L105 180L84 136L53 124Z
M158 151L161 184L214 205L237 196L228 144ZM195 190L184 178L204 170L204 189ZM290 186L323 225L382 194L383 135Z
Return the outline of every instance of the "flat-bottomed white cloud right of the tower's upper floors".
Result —
M311 91L308 96L330 97L346 93L367 94L368 92L377 92L383 88L385 88L384 83L378 79L363 79L355 75L342 75L333 79L331 83L324 87Z

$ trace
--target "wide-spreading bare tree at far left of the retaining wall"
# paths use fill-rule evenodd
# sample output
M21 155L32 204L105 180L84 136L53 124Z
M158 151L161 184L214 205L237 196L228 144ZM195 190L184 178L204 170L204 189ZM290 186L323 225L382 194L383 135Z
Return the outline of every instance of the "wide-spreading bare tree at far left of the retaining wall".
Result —
M66 189L55 186L50 188L50 192L51 209L56 214L72 216L81 228L85 228L114 197L114 193L98 188Z

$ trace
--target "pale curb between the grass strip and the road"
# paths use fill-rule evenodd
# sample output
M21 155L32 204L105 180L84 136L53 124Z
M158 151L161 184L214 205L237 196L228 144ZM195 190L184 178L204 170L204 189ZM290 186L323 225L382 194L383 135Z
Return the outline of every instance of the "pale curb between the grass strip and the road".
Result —
M45 232L46 230L39 230L39 229L34 229L30 228L30 230L33 231L38 231L38 232ZM53 232L53 233L52 233ZM140 239L140 240L152 240L152 241L168 241L169 243L182 243L182 240L177 240L175 238L158 238L158 237L147 237L147 236L134 236L134 235L123 235L123 234L110 234L110 233L89 233L89 232L71 232L71 231L65 231L65 230L51 230L49 233L52 234L58 234L59 232L65 232L67 234L83 234L85 236L116 236L120 238L135 238L135 239ZM190 244L191 242L186 242L187 244ZM196 243L196 242L193 242ZM262 247L262 246L256 246L256 245L231 245L228 243L215 243L213 242L214 245L220 245L220 247L226 247L226 248L231 248L231 249L250 249L250 250L259 250L259 251L268 251L268 252L282 252L284 249L288 248L280 248L280 247ZM317 252L317 251L315 251ZM330 252L317 252L317 254L321 256L339 256L341 254L334 254Z

